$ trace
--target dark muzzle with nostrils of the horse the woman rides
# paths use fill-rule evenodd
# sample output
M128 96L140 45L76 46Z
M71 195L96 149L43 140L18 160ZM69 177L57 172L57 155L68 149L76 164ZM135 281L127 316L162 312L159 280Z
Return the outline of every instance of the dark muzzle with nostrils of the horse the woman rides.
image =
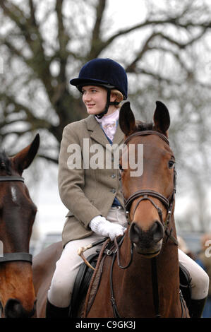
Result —
M138 254L152 258L159 254L164 237L164 226L155 220L149 230L142 230L137 222L133 221L129 229L129 237Z

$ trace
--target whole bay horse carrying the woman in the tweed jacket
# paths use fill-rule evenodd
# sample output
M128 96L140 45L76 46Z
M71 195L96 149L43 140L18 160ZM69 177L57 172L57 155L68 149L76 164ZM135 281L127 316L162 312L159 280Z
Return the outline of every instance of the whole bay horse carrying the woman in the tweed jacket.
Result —
M174 225L175 158L169 147L170 117L167 107L157 102L154 123L135 121L130 103L123 104L119 124L125 134L120 158L122 194L128 227L114 253L104 259L100 285L83 317L183 317L188 316L179 290L179 259ZM130 147L143 145L143 174L131 176L123 168ZM136 162L137 162L137 155ZM33 261L37 317L45 316L47 290L61 242L52 244ZM117 256L117 257L116 257ZM88 298L87 298L88 300ZM86 306L85 306L86 308Z

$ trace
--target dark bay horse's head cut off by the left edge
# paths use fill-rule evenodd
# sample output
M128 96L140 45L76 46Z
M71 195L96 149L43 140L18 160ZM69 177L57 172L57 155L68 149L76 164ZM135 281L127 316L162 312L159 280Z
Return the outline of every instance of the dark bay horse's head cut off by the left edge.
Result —
M29 318L35 313L30 236L37 207L22 177L40 144L37 134L12 158L0 153L0 302L1 317ZM3 252L2 252L3 251Z

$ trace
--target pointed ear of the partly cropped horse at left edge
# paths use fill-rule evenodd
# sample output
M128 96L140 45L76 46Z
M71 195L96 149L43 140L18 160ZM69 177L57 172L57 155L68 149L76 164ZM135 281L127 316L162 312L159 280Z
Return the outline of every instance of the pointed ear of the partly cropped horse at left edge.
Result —
M15 169L20 175L23 173L23 170L25 170L25 168L28 168L30 166L32 160L34 160L39 146L40 135L37 134L29 146L27 146L19 153L17 153L13 158L11 158Z

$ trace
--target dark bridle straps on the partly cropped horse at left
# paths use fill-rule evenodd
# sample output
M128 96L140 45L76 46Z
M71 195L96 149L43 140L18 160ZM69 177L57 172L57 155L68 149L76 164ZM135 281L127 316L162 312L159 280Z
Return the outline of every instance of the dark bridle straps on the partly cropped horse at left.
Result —
M18 176L0 176L0 182L13 182L13 181L19 181L24 182L23 177ZM32 255L28 252L10 252L4 254L3 257L0 256L0 263L6 263L8 261L27 261L32 263Z

